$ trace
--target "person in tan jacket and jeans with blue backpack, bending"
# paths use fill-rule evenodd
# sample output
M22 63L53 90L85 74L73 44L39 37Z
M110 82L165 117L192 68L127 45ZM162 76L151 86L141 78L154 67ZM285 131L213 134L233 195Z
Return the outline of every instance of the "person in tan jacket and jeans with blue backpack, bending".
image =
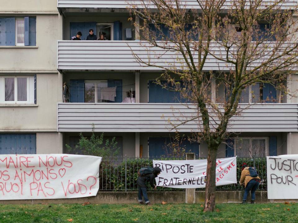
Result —
M255 190L260 184L260 177L254 167L249 167L246 163L242 165L242 172L240 177L240 185L244 185L244 195L242 204L246 203L247 196L251 190L251 203L255 203Z

